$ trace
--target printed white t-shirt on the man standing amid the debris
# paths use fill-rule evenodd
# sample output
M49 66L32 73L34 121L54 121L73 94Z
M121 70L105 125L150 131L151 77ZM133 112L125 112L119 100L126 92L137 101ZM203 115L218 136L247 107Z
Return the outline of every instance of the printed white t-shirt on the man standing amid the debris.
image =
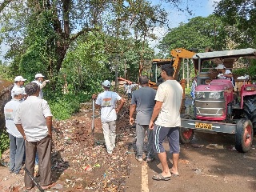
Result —
M117 119L117 114L115 111L115 105L121 97L110 90L105 90L103 93L98 94L96 99L96 104L102 106L101 109L101 119L102 122L112 122Z

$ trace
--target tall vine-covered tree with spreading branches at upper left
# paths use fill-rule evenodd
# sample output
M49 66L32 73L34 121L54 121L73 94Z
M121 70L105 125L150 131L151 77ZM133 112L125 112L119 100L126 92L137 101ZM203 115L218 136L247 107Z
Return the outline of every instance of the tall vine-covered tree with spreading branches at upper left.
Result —
M47 71L50 77L58 77L70 44L80 35L105 31L108 35L115 35L115 40L132 34L139 38L151 35L152 28L161 25L166 19L165 12L159 6L151 6L147 1L7 2L8 11L3 10L1 13L1 30L3 38L11 46L10 53L6 56L14 59L14 71L27 70L21 68L28 67L26 63L31 63L28 59L34 59L38 55L36 65L42 71ZM44 27L47 29L45 34L42 31ZM127 28L130 30L126 30ZM127 31L129 34L126 34ZM20 40L17 41L18 39ZM25 42L25 45L21 43L21 46L16 42ZM118 42L106 43L112 45L110 53L117 52L118 46L114 46L117 44ZM31 72L34 70L37 69L34 68Z

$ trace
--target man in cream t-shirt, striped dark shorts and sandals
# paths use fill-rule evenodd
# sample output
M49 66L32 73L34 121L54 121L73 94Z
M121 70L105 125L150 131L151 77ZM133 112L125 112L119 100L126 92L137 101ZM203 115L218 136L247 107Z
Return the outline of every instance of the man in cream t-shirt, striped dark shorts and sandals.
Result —
M170 64L162 66L161 76L164 82L158 86L155 96L156 104L150 119L150 129L153 129L154 150L162 164L162 174L154 175L153 179L168 181L171 176L178 176L179 157L179 126L181 126L180 108L182 105L182 86L173 78L174 67ZM157 118L154 125L154 119ZM169 170L166 160L166 150L162 146L168 138L170 154L173 154L173 166Z

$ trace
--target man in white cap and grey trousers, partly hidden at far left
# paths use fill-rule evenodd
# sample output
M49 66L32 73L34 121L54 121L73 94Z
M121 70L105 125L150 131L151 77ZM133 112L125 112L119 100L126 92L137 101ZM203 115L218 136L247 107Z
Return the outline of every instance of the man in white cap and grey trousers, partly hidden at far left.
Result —
M10 173L22 174L22 162L25 154L25 140L22 134L17 130L14 124L14 118L18 106L23 101L25 91L22 88L14 90L14 98L7 102L4 107L4 114L6 119L6 130L10 138Z

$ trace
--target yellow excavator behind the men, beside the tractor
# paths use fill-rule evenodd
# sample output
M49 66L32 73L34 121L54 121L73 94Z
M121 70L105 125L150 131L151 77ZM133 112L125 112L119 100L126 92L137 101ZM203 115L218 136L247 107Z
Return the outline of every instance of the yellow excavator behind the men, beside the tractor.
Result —
M150 73L150 87L157 90L158 85L162 83L161 78L161 66L165 64L170 64L174 66L174 79L178 80L178 72L180 70L182 58L192 58L195 53L186 50L183 48L178 48L170 51L170 55L172 58L166 58L166 59L157 59L154 58L152 60L152 66L151 66L151 73ZM182 110L185 109L185 84L186 80L182 79L180 81L182 88L183 88L183 96L182 96Z

